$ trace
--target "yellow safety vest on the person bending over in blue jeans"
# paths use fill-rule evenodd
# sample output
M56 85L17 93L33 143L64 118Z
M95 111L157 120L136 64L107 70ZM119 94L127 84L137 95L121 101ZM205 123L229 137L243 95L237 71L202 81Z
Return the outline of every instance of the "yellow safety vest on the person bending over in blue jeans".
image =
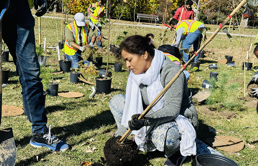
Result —
M194 20L182 20L177 23L177 26L175 30L177 31L178 28L185 28L185 32L183 35L188 35L191 32L194 32L199 28L199 26L202 25L200 21L194 21Z

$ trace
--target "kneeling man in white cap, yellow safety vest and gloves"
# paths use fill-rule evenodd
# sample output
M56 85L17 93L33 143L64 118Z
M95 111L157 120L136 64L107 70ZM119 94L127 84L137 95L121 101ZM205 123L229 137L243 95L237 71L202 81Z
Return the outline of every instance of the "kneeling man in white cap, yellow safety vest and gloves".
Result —
M85 51L85 46L90 48L96 41L96 34L90 28L89 24L85 23L85 16L83 13L76 13L73 22L66 25L65 43L64 43L64 57L66 60L72 61L71 67L78 68L78 62L82 59L81 53ZM93 62L93 57L83 60L84 64L90 65Z

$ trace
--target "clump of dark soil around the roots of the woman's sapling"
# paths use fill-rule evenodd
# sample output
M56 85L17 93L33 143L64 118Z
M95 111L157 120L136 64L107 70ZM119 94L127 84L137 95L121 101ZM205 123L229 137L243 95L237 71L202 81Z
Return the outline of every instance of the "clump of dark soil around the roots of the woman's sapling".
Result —
M121 136L111 137L104 146L104 155L107 166L131 165L138 157L137 145L135 142L126 139L123 144L118 141Z

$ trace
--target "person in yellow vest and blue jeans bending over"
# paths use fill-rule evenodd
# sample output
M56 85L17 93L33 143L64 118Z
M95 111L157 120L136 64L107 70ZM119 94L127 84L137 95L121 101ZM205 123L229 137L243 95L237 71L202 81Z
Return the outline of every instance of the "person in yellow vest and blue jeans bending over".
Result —
M200 48L202 30L206 29L204 24L194 20L182 20L178 22L178 20L173 18L169 22L169 25L176 31L176 42L175 44L172 43L171 46L178 48L180 41L185 39L182 47L183 49L189 49L192 45L194 51L197 51ZM183 58L185 62L188 62L189 55L183 52ZM195 57L195 62L199 62L199 54Z

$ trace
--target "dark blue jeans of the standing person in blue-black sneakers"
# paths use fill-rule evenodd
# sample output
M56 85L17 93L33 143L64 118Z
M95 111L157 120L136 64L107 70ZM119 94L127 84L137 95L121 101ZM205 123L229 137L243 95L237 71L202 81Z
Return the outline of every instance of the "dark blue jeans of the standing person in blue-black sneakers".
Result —
M10 4L12 2L10 1ZM40 66L35 49L34 18L30 11L24 10L25 13L30 13L30 15L26 15L27 18L32 19L13 22L13 20L17 20L17 13L4 15L2 37L16 65L16 72L22 85L24 109L32 123L32 134L36 134L42 133L42 128L47 123L47 117L44 114L43 86L41 78L39 78Z

